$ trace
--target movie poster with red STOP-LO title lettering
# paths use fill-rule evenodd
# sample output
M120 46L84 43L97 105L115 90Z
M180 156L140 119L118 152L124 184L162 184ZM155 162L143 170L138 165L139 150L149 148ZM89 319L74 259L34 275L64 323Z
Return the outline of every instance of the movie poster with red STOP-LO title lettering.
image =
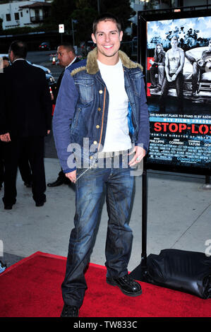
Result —
M147 164L210 174L211 16L146 24Z

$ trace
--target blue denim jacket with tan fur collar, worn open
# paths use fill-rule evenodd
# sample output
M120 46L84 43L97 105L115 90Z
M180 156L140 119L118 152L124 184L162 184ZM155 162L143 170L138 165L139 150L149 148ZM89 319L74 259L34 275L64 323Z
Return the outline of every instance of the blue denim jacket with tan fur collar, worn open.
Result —
M149 146L150 123L140 64L119 51L128 95L128 128L131 142ZM53 118L54 140L64 172L76 169L74 162L90 165L102 150L107 129L109 93L97 65L97 49L88 54L85 66L66 71L61 82ZM75 159L76 158L76 159ZM80 166L81 167L81 166Z

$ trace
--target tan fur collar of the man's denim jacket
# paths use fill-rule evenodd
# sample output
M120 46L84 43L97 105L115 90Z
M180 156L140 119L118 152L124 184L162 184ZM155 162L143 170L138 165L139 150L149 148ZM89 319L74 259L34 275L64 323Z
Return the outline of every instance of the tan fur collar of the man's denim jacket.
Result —
M128 69L132 68L140 68L143 70L143 66L140 64L137 64L136 62L131 61L131 59L122 51L119 50L119 58L121 59L121 62L123 66L125 66ZM97 65L97 47L93 49L91 52L88 53L88 59L87 59L87 64L86 66L82 66L79 68L74 69L71 72L71 75L75 75L79 71L86 70L90 75L95 75L97 71L99 71L99 67Z

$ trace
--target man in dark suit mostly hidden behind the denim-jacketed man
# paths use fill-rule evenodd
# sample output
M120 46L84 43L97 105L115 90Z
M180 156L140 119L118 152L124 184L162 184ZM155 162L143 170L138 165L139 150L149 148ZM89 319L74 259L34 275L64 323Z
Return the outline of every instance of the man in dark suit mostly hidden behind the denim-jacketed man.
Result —
M61 85L61 80L64 75L64 71L69 70L73 68L73 64L76 64L76 62L80 61L76 57L75 49L72 45L69 44L62 44L57 48L57 54L59 59L59 65L63 67L63 71L61 72L61 75L58 78L58 81L56 83L56 93L54 93L54 103L56 104L56 97L59 93L59 88ZM58 174L58 177L56 181L52 183L48 183L47 186L61 186L61 184L68 184L72 185L71 181L65 176L63 170L61 170Z

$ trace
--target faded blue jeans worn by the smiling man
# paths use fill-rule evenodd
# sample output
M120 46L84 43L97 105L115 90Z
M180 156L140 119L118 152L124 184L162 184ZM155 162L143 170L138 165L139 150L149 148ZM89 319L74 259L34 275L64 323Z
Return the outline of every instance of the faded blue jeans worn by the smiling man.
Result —
M128 273L133 242L128 223L134 178L130 167L123 168L121 158L119 168L114 167L113 160L110 166L92 168L76 182L75 227L71 231L66 276L61 285L64 302L68 305L80 307L83 303L87 289L84 271L95 243L104 195L109 215L105 247L107 277L120 278ZM77 170L77 173L80 175L83 171Z

